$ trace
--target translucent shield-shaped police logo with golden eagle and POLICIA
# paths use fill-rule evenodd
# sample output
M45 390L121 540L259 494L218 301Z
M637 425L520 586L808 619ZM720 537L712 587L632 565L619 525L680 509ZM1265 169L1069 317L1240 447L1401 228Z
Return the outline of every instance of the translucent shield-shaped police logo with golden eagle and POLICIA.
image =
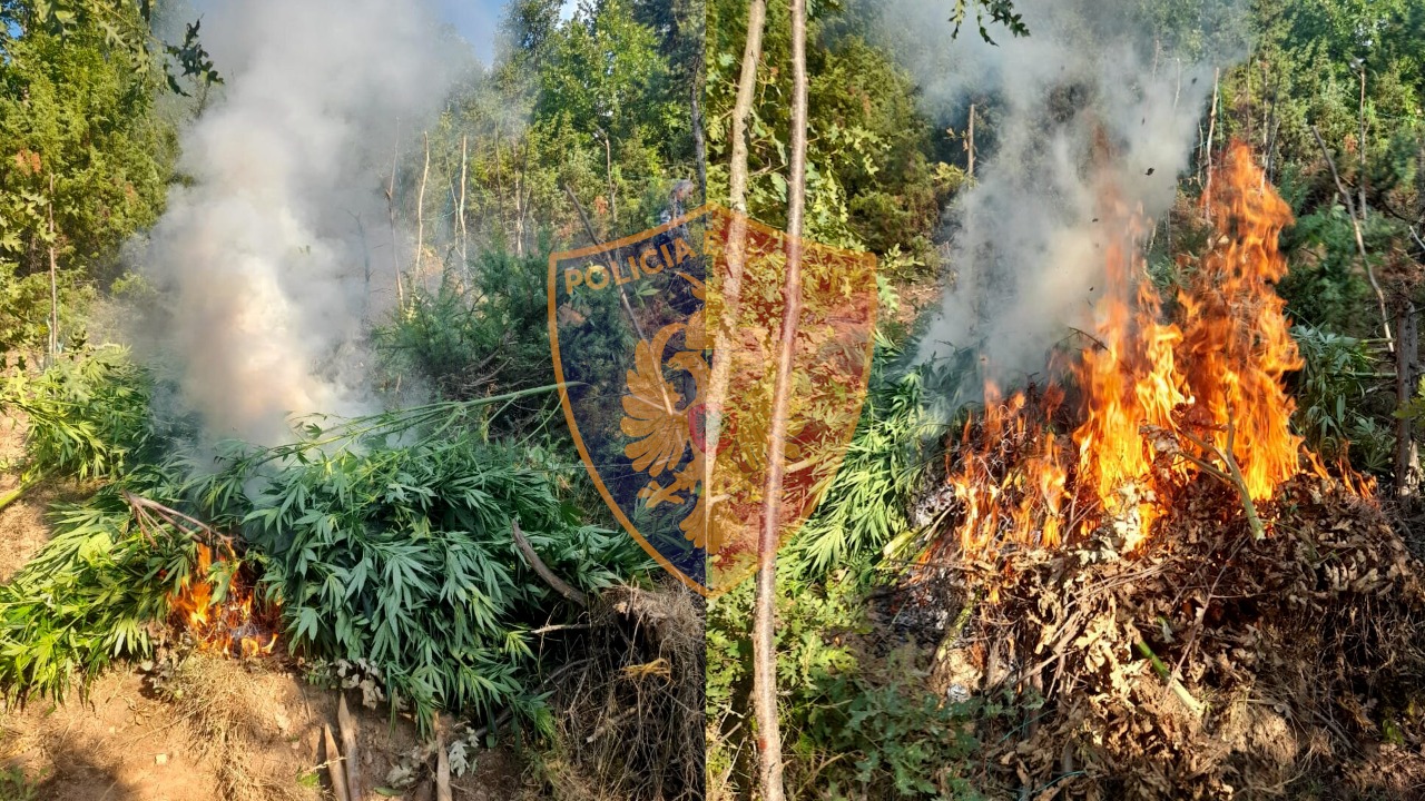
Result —
M644 550L703 594L757 564L788 237L704 205L549 262L560 400L594 486ZM779 542L855 433L875 258L802 242Z

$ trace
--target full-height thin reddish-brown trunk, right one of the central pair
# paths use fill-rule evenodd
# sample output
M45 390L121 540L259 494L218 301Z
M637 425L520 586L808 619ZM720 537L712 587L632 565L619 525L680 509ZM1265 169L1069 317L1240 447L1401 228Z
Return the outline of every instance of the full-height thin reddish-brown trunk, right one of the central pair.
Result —
M782 477L787 470L787 416L791 409L792 362L801 321L802 215L807 204L807 4L791 0L792 14L792 153L787 181L787 282L781 345L772 388L772 422L767 435L767 489L762 532L757 542L757 607L752 617L752 704L757 714L758 778L762 801L782 801L782 734L777 713L777 544L782 522Z

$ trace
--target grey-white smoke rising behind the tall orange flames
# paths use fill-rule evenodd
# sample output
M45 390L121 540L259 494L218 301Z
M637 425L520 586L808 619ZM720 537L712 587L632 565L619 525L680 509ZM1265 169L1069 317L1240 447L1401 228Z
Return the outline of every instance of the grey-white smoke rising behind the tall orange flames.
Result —
M1000 379L1042 369L1070 326L1092 329L1103 248L1116 234L1094 219L1103 187L1150 219L1173 204L1213 68L1226 57L1221 46L1201 57L1174 51L1140 9L1136 0L1016 0L1030 36L992 29L992 46L972 24L952 41L945 3L882 6L882 29L893 31L925 111L965 120L978 103L980 147L992 138L976 184L949 214L955 279L921 361L973 348ZM1211 37L1196 50L1208 50Z

